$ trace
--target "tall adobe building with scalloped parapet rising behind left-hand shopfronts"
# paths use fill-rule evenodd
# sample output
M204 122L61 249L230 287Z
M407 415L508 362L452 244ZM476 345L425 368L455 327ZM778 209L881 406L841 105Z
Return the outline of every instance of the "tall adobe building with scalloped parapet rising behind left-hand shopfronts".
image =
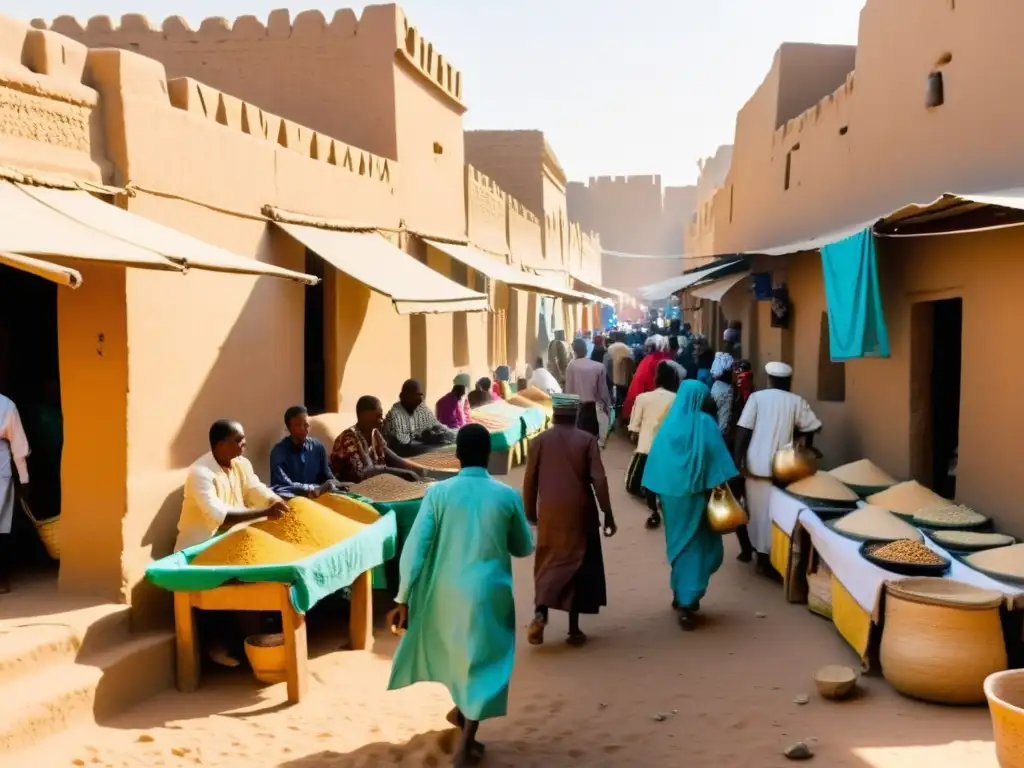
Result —
M37 19L33 24L45 26ZM462 204L462 74L434 50L396 5L318 10L294 20L271 11L233 23L179 16L159 27L142 14L50 27L90 47L131 50L161 61L170 78L190 77L323 135L402 163L395 184L411 228L465 233Z

